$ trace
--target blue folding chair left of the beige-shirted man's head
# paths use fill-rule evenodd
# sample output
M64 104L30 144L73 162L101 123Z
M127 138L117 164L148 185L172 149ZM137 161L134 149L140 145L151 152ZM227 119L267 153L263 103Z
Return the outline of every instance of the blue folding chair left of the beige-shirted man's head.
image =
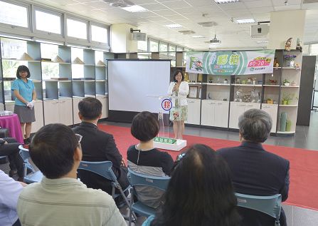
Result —
M40 182L43 178L43 174L32 162L28 149L23 148L23 145L19 145L18 149L20 149L19 153L24 165L23 182L27 184ZM28 170L31 170L31 173L28 174Z

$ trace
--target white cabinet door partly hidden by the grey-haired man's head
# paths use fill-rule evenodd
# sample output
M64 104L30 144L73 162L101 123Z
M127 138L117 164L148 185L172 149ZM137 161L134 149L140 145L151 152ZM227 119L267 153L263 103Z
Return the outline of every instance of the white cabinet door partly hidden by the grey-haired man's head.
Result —
M230 128L238 129L238 117L250 109L260 109L260 103L230 102Z

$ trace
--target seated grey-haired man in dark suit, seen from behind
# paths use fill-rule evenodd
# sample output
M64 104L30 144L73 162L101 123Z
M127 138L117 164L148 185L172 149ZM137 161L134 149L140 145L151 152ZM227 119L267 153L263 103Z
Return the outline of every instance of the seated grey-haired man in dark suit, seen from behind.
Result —
M287 200L290 185L290 162L267 152L262 143L272 128L272 118L265 111L251 109L238 119L240 141L238 147L222 148L218 154L226 159L232 171L235 192L246 195L282 195ZM272 226L275 220L256 210L240 207L244 226ZM280 214L280 225L286 225L285 212Z

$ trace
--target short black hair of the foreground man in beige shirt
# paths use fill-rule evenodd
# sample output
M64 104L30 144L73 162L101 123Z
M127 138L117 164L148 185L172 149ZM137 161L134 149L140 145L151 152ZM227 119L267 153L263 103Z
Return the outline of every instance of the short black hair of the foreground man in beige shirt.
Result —
M49 179L61 178L72 170L78 138L68 126L55 123L44 125L30 144L33 163Z

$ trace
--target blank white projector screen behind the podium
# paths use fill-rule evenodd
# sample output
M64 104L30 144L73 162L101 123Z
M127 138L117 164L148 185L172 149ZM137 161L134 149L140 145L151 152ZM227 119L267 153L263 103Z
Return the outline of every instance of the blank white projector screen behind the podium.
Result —
M158 113L169 83L170 61L108 61L109 110Z

